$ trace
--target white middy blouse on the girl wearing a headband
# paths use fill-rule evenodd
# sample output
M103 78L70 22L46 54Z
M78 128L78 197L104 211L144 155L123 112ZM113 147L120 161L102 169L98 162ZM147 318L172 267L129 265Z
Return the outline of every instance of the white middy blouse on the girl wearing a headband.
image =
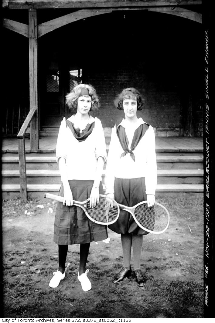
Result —
M85 141L75 139L63 118L56 145L56 161L66 161L68 180L95 180L98 157L107 158L106 143L101 121L95 117L95 127ZM101 180L101 178L100 178Z

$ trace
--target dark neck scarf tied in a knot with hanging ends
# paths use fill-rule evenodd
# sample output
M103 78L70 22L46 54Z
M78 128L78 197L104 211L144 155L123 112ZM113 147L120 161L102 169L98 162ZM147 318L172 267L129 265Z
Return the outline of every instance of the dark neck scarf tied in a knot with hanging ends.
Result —
M128 141L128 137L126 136L126 133L125 133L125 128L121 125L119 125L117 127L117 129L116 129L117 136L119 138L120 145L122 146L122 149L124 150L124 152L121 154L121 157L124 157L126 154L130 153L130 157L133 159L133 161L135 161L135 156L132 151L137 147L139 141L141 140L141 138L144 136L146 130L148 130L148 129L149 129L149 125L147 123L143 123L134 131L134 136L133 136L131 146L129 149L129 147L128 147L129 141Z

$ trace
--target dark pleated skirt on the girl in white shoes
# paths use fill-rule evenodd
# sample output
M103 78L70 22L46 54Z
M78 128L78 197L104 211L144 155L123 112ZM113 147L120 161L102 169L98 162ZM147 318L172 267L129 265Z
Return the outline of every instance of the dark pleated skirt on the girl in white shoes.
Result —
M94 181L69 181L73 199L85 201L90 197ZM99 194L104 194L102 183L99 185ZM59 196L64 195L61 185ZM91 241L107 239L107 226L96 224L88 219L84 210L78 206L66 206L58 202L54 221L54 242L58 245L84 244Z

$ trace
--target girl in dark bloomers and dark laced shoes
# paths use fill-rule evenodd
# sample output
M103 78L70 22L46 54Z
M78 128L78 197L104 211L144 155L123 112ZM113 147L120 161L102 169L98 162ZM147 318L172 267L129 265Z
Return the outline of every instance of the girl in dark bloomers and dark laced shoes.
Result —
M148 206L153 206L157 184L155 136L153 127L137 117L137 110L141 110L142 106L141 95L136 89L127 88L114 103L119 110L123 109L125 119L112 129L105 174L106 194L126 206L146 200ZM123 268L114 277L114 283L118 284L133 274L138 286L144 286L140 258L143 235L148 232L138 227L132 215L125 210L120 210L117 222L109 228L121 234L123 251ZM131 246L133 273L130 266Z

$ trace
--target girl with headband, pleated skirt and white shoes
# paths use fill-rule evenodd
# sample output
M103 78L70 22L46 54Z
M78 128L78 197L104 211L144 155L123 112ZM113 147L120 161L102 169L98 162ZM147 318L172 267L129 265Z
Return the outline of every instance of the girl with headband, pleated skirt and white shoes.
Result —
M65 277L65 262L68 245L80 244L78 280L82 289L91 289L87 277L86 261L91 241L107 238L107 226L90 221L73 200L85 201L90 197L90 206L99 202L104 194L101 174L106 161L106 143L101 121L89 111L98 109L96 90L88 84L79 84L67 94L69 108L76 109L67 120L63 118L59 129L56 161L59 164L62 185L54 221L54 242L58 244L59 267L53 273L50 287L57 287Z

